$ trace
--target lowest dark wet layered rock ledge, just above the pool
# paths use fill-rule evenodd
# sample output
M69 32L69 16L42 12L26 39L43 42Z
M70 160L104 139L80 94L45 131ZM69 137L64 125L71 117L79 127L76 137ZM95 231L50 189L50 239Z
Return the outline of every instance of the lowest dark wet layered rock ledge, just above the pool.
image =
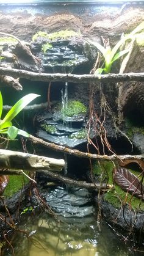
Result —
M44 194L49 207L63 218L89 218L95 213L92 194L87 189L57 187Z

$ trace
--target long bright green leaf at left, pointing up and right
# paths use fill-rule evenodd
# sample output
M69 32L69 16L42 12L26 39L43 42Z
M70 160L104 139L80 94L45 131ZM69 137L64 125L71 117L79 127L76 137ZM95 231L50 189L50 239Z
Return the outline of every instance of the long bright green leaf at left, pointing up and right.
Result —
M20 100L18 100L15 105L10 109L10 111L5 115L2 122L11 121L27 104L29 104L32 100L39 97L35 93L29 93Z

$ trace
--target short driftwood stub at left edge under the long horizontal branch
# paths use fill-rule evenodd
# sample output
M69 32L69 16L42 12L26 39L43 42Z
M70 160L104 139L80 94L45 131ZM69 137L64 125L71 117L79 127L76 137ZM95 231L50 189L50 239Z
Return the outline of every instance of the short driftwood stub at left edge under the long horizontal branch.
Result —
M2 76L0 75L0 81L2 84L0 84L0 87L12 87L15 90L23 90L23 87L21 86L19 82L19 78L15 79L12 78L12 76Z

